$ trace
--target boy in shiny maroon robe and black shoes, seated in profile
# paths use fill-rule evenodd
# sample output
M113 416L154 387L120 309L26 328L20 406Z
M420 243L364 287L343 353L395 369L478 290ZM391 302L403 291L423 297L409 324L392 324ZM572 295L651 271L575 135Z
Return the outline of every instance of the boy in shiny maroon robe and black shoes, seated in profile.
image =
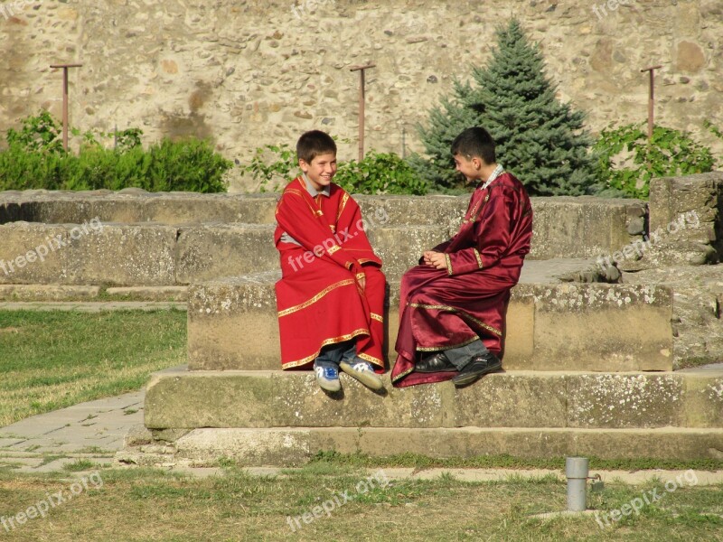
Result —
M477 187L455 237L402 277L395 387L449 378L465 386L502 368L507 302L530 252L530 198L496 163L484 128L458 135L452 154L457 171Z

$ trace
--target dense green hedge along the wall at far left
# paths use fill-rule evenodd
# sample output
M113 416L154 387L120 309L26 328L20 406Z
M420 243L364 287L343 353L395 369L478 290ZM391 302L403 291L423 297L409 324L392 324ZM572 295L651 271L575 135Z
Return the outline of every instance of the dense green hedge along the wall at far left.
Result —
M99 138L114 134L89 131L82 134L80 154L74 155L62 149L58 123L49 113L25 118L20 131L8 130L8 148L0 152L0 190L226 190L223 174L232 163L209 142L164 139L144 149L142 134L138 128L118 132L117 148L106 149Z

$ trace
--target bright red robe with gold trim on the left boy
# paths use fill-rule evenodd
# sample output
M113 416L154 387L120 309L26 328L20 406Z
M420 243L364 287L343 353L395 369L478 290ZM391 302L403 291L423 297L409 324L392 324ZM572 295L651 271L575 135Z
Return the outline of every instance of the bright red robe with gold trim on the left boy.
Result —
M383 370L386 281L357 202L333 183L328 197L314 198L298 177L281 194L276 219L282 369L311 369L322 347L356 338L357 355ZM284 232L301 246L283 241Z

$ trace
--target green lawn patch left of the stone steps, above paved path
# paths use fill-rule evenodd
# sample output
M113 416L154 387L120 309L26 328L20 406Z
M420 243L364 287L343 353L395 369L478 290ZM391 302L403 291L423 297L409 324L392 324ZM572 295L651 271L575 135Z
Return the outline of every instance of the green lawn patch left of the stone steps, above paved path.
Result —
M184 311L0 311L0 427L141 388L185 344Z

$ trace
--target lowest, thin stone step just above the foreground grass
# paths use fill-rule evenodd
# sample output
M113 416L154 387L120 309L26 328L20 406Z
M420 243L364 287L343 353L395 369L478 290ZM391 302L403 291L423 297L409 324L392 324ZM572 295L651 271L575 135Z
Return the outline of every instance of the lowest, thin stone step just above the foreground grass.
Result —
M280 427L194 429L172 446L193 464L231 459L245 466L297 466L335 451L372 457L419 454L471 458L508 454L521 458L566 456L599 459L691 461L723 458L723 429L579 429L517 427Z

